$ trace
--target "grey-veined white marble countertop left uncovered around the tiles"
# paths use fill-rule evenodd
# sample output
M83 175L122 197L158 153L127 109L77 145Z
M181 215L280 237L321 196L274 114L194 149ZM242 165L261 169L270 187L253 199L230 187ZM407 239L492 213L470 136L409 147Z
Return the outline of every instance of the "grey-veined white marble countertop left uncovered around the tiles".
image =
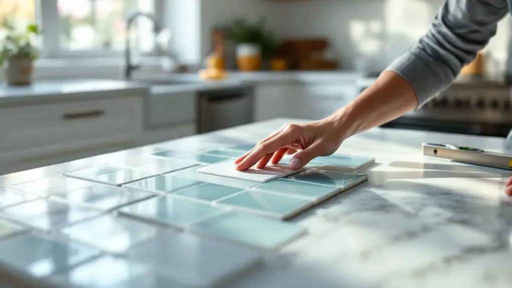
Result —
M120 163L164 146L255 142L289 122L302 120L252 123L4 175L0 186ZM423 157L423 142L504 151L504 140L492 137L383 128L351 137L337 152L374 157L375 165L358 172L369 180L291 219L307 234L224 286L509 287L512 198L503 188L512 172Z

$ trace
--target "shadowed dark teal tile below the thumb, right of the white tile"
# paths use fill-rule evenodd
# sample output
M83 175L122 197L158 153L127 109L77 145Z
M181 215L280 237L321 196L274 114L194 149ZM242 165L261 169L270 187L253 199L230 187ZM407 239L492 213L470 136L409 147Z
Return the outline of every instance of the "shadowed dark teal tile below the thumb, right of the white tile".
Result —
M367 180L368 176L353 173L309 169L288 176L288 179L345 188L353 185L354 183Z

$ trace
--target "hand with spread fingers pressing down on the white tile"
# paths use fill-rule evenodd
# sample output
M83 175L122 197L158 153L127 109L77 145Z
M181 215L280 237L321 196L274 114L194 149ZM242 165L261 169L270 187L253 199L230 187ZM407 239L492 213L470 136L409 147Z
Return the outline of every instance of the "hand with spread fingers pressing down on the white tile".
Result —
M285 154L293 154L290 169L297 170L318 156L329 156L338 149L344 137L336 131L334 121L329 118L304 124L287 124L235 161L237 170L246 170L255 164L265 167L270 161L276 164Z

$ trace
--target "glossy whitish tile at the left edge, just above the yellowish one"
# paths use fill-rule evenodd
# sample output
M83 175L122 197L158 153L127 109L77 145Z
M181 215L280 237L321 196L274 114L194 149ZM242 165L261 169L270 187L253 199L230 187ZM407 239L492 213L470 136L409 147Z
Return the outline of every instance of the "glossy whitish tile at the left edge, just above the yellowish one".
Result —
M0 215L16 223L52 231L100 215L92 208L72 206L51 199L35 200L0 211Z

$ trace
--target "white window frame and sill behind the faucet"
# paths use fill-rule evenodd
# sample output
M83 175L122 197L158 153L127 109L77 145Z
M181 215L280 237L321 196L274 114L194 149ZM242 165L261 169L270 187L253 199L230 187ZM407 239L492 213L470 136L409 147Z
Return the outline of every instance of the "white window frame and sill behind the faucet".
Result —
M42 3L44 2L44 5ZM154 0L155 18L160 25L164 25L164 11L167 1ZM43 59L74 59L74 58L105 58L120 57L124 51L105 51L105 50L81 50L69 51L61 49L59 45L60 19L57 9L57 0L36 0L35 21L40 25L43 31L40 58ZM154 49L151 52L144 53L141 56L157 56L158 52Z

